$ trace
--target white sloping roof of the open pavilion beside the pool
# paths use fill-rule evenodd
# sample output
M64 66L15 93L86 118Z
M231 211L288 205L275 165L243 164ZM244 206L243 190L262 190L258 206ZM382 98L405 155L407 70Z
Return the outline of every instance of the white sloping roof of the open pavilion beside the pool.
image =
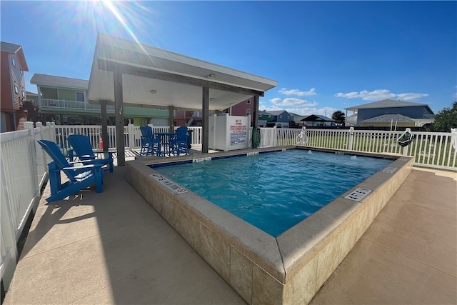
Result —
M274 88L278 82L189 56L99 34L89 78L89 102L114 101L114 70L122 71L123 103L201 109L202 87L209 109L224 110ZM231 90L231 91L230 91Z

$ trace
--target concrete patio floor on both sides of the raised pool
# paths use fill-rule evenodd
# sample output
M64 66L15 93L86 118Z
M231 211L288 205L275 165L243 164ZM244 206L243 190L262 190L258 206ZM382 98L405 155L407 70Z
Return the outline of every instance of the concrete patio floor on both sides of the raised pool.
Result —
M414 169L311 304L456 304L456 287L457 174ZM41 199L4 300L70 303L244 304L124 166L102 194Z

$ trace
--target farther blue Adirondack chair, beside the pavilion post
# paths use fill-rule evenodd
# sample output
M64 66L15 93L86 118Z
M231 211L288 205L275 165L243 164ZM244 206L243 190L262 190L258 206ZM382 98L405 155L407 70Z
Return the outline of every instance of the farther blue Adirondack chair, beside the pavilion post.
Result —
M104 151L96 155L92 150L91 139L89 139L89 136L84 136L84 134L71 134L67 137L67 140L73 148L69 151L70 161L73 161L74 154L76 154L81 161L92 161L94 164L102 164L103 166L108 165L109 171L113 172L112 152ZM103 154L104 158L98 158L100 154Z

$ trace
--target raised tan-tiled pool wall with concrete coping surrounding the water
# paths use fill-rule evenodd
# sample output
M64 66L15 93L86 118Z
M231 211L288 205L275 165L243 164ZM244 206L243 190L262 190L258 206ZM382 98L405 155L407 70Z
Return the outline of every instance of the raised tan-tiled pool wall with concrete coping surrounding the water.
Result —
M410 174L414 161L398 155L358 154L393 162L277 237L147 166L282 149L309 148L284 146L126 162L129 184L247 304L308 304Z

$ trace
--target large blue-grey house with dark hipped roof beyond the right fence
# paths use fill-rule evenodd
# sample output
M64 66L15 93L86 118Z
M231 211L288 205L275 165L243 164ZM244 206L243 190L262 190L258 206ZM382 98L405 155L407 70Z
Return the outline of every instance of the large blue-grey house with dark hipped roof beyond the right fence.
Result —
M348 116L348 111L353 111L353 114ZM346 126L367 126L368 119L373 119L386 114L399 114L414 120L413 126L423 126L433 123L435 114L427 104L411 103L408 101L394 101L392 99L384 99L373 103L352 106L346 108ZM377 120L376 126L390 126L391 119L381 117ZM368 126L373 126L369 124Z

